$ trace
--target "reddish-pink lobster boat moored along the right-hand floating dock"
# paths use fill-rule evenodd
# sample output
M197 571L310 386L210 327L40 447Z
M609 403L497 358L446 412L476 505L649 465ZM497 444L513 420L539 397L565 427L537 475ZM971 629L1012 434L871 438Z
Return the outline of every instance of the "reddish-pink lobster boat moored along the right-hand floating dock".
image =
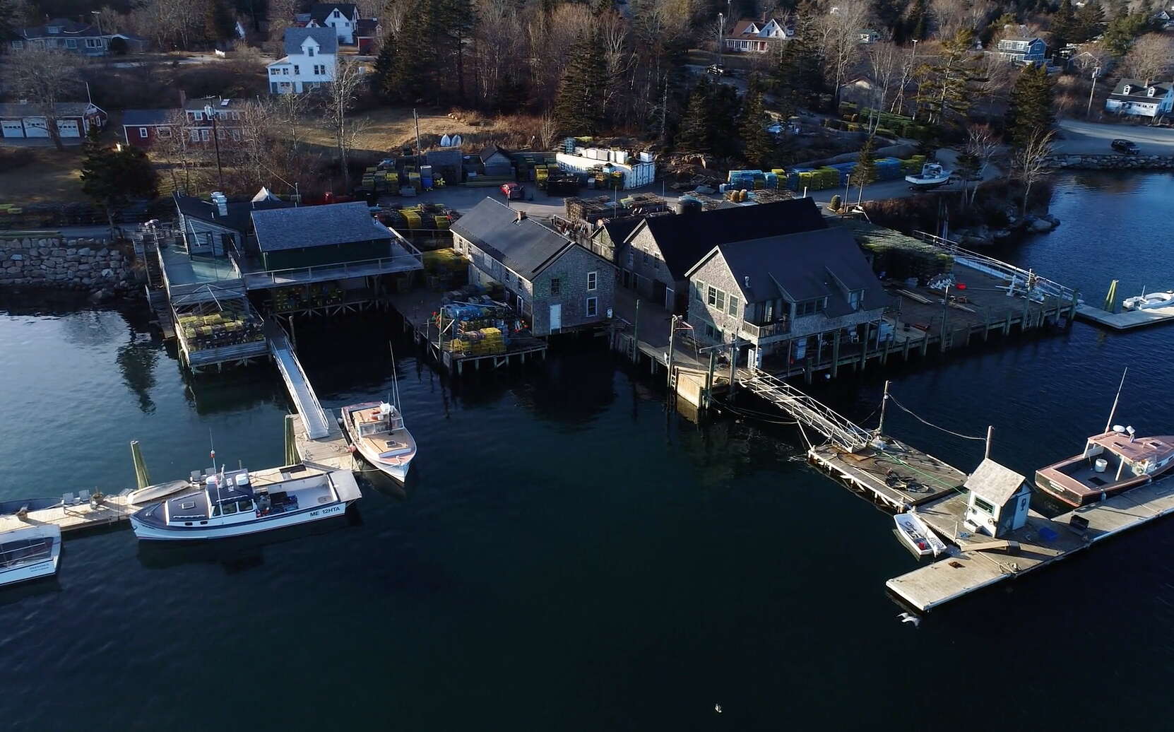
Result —
M1147 483L1172 459L1174 437L1135 437L1132 427L1116 425L1089 437L1082 454L1040 469L1035 479L1048 492L1085 503Z

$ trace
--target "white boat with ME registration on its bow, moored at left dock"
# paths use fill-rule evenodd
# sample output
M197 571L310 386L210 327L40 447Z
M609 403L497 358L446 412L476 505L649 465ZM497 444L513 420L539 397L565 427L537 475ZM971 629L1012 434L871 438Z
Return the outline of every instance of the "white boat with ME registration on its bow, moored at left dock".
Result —
M221 468L194 490L131 513L130 526L140 540L218 539L342 516L360 497L345 470Z

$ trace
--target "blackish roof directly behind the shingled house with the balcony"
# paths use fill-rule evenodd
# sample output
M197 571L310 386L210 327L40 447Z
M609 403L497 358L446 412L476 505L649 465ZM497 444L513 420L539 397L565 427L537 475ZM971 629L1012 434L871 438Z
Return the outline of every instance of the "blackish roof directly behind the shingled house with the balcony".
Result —
M675 280L684 280L689 269L717 244L828 228L814 199L649 216L641 223L640 228L647 228L656 241Z

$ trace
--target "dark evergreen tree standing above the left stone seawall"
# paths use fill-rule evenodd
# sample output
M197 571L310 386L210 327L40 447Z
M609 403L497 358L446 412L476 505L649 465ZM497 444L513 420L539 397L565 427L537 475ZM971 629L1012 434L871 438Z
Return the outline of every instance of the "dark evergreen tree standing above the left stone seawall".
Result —
M114 231L114 214L133 199L158 195L158 175L147 153L127 145L121 149L99 142L97 127L82 146L81 190L106 211Z

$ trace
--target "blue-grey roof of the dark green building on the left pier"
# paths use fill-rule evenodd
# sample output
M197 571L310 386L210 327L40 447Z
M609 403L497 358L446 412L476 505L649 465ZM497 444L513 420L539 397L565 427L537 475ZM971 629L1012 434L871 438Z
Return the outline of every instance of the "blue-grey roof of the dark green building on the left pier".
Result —
M371 217L362 201L252 211L262 251L391 240L387 227Z

